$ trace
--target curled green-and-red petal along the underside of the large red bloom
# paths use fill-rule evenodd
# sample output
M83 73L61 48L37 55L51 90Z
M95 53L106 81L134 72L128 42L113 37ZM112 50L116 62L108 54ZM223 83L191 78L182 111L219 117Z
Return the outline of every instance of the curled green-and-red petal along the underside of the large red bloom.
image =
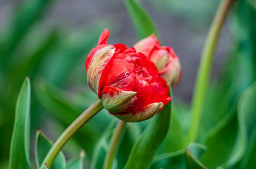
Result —
M147 107L145 107L142 111L137 112L135 115L132 113L127 114L113 114L116 118L119 118L122 121L127 122L139 122L147 120L154 115L156 115L160 110L163 109L163 103L151 103Z

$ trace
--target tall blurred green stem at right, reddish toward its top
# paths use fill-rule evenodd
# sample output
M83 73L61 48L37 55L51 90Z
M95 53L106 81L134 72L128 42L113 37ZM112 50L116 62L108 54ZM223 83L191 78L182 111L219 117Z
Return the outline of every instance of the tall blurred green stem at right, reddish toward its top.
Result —
M192 121L189 128L189 142L194 142L197 139L199 123L201 120L202 109L204 105L204 97L209 83L210 70L212 59L221 27L224 23L227 13L234 0L222 0L221 5L215 15L211 28L208 33L207 41L201 56L201 62L198 69L197 81L192 98Z

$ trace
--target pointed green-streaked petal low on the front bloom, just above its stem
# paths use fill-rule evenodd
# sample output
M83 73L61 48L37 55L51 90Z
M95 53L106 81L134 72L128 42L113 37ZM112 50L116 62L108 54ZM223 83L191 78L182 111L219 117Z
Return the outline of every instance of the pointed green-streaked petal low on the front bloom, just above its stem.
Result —
M100 93L100 99L105 109L111 113L120 113L137 100L136 94L137 92L106 86Z

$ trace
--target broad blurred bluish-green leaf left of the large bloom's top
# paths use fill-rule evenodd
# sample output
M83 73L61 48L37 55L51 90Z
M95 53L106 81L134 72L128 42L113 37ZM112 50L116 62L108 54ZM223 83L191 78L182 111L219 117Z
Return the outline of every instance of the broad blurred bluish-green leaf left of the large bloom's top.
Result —
M87 24L67 38L47 56L42 65L42 76L57 87L65 85L67 77L78 67L82 68L79 76L73 80L82 80L86 83L84 62L92 48L97 45L99 35L104 28L113 28L113 21L108 19L97 20L96 23Z

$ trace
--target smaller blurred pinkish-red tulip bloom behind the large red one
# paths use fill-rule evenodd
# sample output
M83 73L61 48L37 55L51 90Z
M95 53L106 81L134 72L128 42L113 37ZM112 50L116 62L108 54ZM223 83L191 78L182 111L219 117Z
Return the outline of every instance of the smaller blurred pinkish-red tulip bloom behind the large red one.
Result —
M175 87L180 81L181 66L178 56L169 46L160 46L157 37L152 34L140 40L134 45L137 52L147 56L157 67L158 73L166 82L170 82Z

